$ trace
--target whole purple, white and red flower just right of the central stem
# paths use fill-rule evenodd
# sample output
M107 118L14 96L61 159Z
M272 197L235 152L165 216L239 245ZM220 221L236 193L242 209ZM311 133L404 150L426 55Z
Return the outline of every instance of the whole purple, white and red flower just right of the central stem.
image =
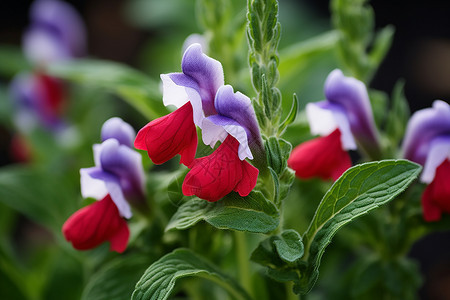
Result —
M336 180L351 167L347 151L377 153L378 134L364 83L334 70L325 82L326 100L308 103L306 114L313 135L321 137L300 144L288 165L297 177ZM376 155L376 154L374 154Z

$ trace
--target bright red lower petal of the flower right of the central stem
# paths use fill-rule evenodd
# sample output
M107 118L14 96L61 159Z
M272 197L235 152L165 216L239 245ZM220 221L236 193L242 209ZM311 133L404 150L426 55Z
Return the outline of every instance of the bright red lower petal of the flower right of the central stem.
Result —
M349 154L342 149L341 132L336 129L294 148L288 166L302 179L320 177L336 180L352 166Z

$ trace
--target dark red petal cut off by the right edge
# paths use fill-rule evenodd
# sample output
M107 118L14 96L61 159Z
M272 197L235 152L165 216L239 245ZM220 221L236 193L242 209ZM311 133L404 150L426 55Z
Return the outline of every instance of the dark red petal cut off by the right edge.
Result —
M434 180L422 194L425 221L438 221L441 213L450 213L450 161L446 159L436 168Z

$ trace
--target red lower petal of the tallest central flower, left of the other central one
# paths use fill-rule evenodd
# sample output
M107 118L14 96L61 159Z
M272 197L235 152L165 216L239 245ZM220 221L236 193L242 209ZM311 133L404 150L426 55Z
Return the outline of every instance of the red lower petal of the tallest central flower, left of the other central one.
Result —
M186 103L145 125L138 132L134 147L146 150L155 164L162 164L180 154L180 163L189 166L197 151L197 131L191 104Z

